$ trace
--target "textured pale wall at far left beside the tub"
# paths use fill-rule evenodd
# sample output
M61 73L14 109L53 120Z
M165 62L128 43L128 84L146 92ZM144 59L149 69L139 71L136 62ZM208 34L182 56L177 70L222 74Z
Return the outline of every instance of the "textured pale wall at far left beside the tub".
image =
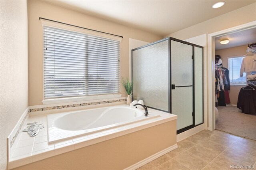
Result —
M0 169L7 168L7 137L28 107L26 1L0 1Z

